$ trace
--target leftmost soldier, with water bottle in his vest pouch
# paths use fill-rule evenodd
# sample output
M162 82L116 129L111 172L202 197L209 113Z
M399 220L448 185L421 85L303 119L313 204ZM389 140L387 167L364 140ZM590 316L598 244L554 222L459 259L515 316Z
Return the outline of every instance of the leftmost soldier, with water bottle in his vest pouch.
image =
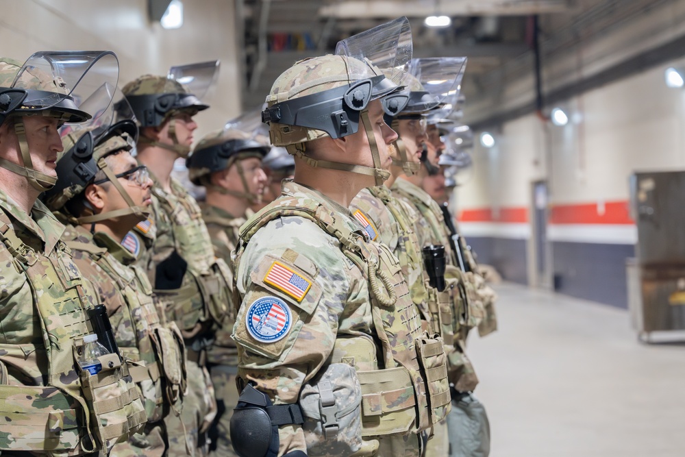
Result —
M3 456L107 454L147 419L125 360L100 356L95 374L75 363L99 297L37 200L57 180L58 127L90 119L79 102L116 85L118 69L110 51L45 51L23 66L0 58Z

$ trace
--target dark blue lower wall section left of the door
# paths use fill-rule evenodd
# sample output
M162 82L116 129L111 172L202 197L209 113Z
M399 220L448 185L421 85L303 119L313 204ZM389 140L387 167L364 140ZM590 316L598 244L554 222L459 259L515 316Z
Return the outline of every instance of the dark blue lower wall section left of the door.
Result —
M526 240L508 238L469 237L471 249L480 263L492 265L507 281L528 284Z

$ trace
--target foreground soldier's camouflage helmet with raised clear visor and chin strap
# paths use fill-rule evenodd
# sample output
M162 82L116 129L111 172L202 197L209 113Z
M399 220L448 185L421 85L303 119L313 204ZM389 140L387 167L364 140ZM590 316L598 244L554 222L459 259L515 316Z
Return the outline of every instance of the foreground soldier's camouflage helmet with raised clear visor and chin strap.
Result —
M412 55L412 37L406 17L373 27L338 42L335 55L300 60L280 75L266 98L262 121L269 123L274 146L284 146L310 166L361 173L375 177L380 185L389 174L382 169L369 122L367 106L401 90L399 69ZM386 77L383 69L395 69ZM305 155L306 143L330 136L342 138L364 125L373 167L314 160Z

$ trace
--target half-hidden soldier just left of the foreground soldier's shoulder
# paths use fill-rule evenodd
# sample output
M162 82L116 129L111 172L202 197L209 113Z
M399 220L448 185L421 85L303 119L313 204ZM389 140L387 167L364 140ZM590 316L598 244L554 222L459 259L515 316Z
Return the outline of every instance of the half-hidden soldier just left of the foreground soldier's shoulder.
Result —
M190 181L206 188L206 200L200 204L202 219L214 245L214 255L230 262L238 245L238 229L245 223L251 203L260 201L266 184L262 158L269 147L240 131L239 125L207 134L186 161ZM229 319L217 330L216 340L207 360L216 392L218 412L210 437L219 456L235 456L229 424L238 403L236 374L238 349L231 339L235 308L229 300ZM212 450L214 450L212 449Z

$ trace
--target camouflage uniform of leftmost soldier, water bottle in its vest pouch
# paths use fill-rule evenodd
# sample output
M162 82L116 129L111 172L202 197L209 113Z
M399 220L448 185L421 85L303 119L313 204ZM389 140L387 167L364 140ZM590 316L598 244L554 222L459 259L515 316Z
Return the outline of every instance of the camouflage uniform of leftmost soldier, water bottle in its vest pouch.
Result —
M92 333L86 309L98 303L95 289L60 241L64 225L45 205L36 201L29 217L0 190L0 210L1 452L79 455L101 443L111 449L147 417L127 364L116 355L102 359L97 377L75 364L73 350ZM96 400L99 414L90 415L101 395L119 405Z

